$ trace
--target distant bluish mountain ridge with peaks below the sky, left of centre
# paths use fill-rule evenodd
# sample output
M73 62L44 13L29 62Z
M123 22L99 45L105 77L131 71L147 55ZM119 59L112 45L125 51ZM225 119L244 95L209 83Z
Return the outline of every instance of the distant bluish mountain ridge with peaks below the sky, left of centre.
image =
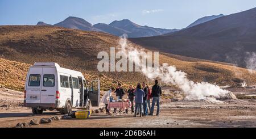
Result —
M51 25L44 22L39 22L37 26ZM168 30L163 28L141 26L131 22L128 19L123 19L120 21L115 20L110 24L98 23L92 26L92 24L87 22L86 20L74 16L69 16L67 19L63 20L60 23L54 24L53 26L77 29L82 31L105 32L115 36L121 36L126 33L128 37L150 37L179 31L177 29Z

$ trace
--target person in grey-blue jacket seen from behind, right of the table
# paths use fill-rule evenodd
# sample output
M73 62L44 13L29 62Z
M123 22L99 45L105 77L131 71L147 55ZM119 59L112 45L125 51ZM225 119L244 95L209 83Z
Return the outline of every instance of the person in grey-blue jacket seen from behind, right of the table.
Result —
M141 84L137 86L137 89L134 92L135 95L135 112L134 117L136 117L137 109L139 108L140 117L142 116L142 102L145 97L145 92L142 90Z

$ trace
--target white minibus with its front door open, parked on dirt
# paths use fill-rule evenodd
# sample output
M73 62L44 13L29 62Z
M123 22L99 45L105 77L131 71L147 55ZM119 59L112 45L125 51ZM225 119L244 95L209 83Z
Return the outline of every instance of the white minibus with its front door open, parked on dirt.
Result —
M57 109L61 114L71 108L98 107L100 81L92 81L89 87L81 72L60 68L54 62L36 62L27 73L24 90L24 106L34 114L46 109Z

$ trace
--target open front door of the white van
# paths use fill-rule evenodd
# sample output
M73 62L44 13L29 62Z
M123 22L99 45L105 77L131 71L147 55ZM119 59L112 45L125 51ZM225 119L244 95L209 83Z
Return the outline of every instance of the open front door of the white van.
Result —
M92 107L100 106L100 92L101 92L100 80L94 80L89 86L89 99L92 103Z

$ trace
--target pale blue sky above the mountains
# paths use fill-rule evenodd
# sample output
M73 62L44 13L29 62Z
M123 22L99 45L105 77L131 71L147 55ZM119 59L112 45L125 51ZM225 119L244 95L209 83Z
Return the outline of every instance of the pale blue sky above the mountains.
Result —
M255 0L0 0L0 25L55 24L77 16L92 24L130 19L143 26L184 28L203 16L254 7Z

